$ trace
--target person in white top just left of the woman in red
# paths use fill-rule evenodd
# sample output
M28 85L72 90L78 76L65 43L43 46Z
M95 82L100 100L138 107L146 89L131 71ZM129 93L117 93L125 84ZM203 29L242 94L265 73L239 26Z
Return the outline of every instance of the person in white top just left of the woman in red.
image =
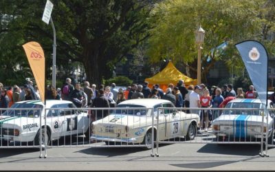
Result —
M200 114L200 111L197 109L192 109L192 108L199 108L201 107L201 103L200 103L200 98L199 98L199 89L201 89L201 87L199 87L199 85L196 85L194 87L194 92L189 94L189 100L190 100L190 112L191 114Z

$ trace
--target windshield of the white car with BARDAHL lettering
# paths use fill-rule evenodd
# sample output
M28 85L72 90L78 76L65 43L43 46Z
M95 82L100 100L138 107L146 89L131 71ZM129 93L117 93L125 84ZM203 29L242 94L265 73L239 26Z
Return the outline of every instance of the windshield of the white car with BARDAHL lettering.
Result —
M29 117L29 118L38 118L43 109L42 105L35 104L25 104L25 103L15 103L11 108L18 108L20 110L8 110L5 111L2 116L18 116L18 117ZM23 109L21 109L23 108ZM34 110L31 108L39 108L39 110Z

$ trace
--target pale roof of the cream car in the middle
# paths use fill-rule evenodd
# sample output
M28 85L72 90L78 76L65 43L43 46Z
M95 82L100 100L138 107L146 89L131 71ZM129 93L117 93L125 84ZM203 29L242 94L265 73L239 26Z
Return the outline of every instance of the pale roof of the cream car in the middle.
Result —
M163 100L163 99L139 98L139 99L125 100L118 105L141 105L144 107L154 107L155 105L158 105L159 103L171 103L171 102L169 100ZM171 103L171 104L173 104L173 103Z

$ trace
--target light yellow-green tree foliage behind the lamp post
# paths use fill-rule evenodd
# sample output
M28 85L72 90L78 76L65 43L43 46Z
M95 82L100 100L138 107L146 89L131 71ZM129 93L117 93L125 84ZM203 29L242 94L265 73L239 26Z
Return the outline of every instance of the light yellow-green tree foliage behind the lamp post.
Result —
M199 24L206 30L202 57L203 81L216 61L225 61L228 66L242 64L234 44L245 39L259 39L261 30L260 8L264 1L205 1L175 0L159 3L151 12L148 40L148 56L151 61L159 61L167 56L174 63L190 65L192 72L197 72L197 45L195 30ZM210 50L228 41L225 52L217 54ZM217 56L216 56L217 55ZM210 56L210 63L206 60ZM240 67L241 68L241 67ZM239 68L238 68L239 69Z

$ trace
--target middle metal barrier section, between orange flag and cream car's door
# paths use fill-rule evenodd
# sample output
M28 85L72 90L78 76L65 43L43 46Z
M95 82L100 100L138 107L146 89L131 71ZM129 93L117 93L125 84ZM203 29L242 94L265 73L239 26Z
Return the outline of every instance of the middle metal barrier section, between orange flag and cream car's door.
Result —
M45 127L50 138L45 147L144 147L155 139L150 108L47 108ZM53 141L51 141L53 140Z

